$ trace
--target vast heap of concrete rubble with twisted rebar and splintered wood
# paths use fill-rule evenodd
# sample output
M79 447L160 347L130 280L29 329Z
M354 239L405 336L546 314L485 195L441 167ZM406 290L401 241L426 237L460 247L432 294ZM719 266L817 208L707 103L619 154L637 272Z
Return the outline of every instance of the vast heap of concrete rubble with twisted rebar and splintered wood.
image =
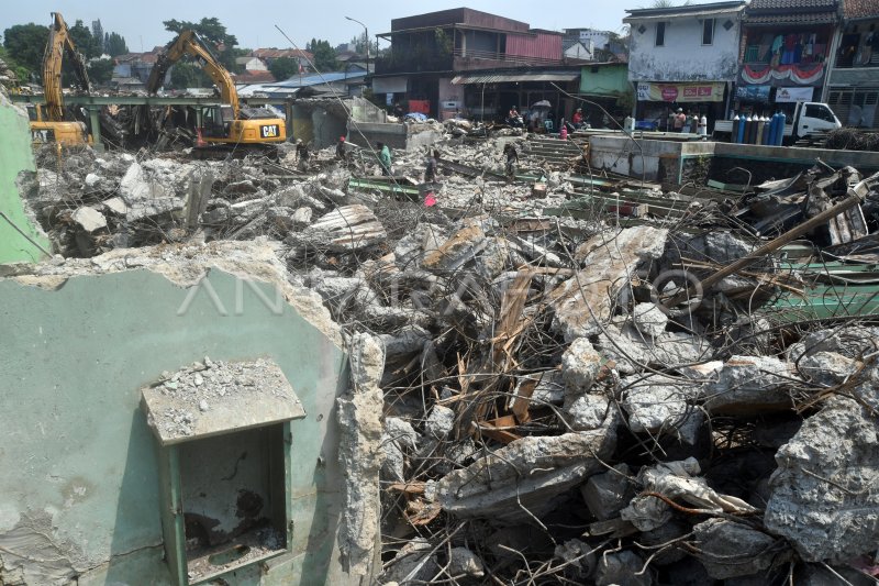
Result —
M355 482L337 539L352 572L383 567L378 584L877 572L879 327L868 312L791 321L779 297L810 298L817 281L790 251L714 278L768 242L743 228L763 221L764 194L692 198L672 219L550 213L597 196L575 163L549 169L520 132L430 128L445 133L432 186L419 183L423 148L394 152L391 180L365 151L342 164L325 150L297 173L283 157L85 150L60 166L41 153L25 203L59 279L133 247L270 244L348 336L336 417ZM508 143L536 179L503 177ZM690 197L604 180L619 197ZM153 423L192 433L218 389L253 392L205 385L229 367L205 358L156 383L188 402ZM379 486L357 486L376 473Z

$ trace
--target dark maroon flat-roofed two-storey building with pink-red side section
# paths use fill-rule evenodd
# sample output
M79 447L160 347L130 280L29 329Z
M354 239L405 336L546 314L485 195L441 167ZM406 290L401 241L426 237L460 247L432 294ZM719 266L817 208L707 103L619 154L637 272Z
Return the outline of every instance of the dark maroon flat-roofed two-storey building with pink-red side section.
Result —
M372 91L386 95L388 103L403 100L410 111L438 118L470 107L480 108L477 115L489 113L483 109L488 107L479 106L482 100L465 103L463 86L483 82L494 85L492 95L501 102L490 107L490 115L498 115L527 99L521 84L542 82L539 71L530 77L525 68L563 65L561 33L531 29L524 22L467 8L393 19L391 32L378 36L391 46L386 56L376 59ZM512 74L512 68L521 71ZM504 77L499 78L503 81L467 78L476 71L488 76L485 71L496 69L504 70ZM512 85L498 85L508 82ZM535 90L547 88L527 91Z

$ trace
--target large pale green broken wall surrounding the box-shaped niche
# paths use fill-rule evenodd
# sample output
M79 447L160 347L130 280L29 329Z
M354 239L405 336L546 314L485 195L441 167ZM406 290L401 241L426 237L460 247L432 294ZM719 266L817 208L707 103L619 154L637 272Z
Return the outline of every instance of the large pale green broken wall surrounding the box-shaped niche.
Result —
M293 554L230 583L346 583L335 561L344 490L335 399L346 356L290 306L274 314L247 286L234 314L236 279L209 278L229 316L203 289L177 316L188 289L143 269L78 276L57 290L0 280L0 545L30 516L48 515L51 548L34 556L69 560L80 586L168 584L157 449L140 388L205 355L268 356L307 412L291 423Z

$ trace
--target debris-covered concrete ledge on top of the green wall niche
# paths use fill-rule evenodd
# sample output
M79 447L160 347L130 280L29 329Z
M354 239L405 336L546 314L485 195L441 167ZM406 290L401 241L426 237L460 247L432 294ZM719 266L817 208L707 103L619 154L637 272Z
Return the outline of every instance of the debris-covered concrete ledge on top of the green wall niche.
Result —
M159 443L190 440L305 417L293 387L272 361L209 362L141 390Z

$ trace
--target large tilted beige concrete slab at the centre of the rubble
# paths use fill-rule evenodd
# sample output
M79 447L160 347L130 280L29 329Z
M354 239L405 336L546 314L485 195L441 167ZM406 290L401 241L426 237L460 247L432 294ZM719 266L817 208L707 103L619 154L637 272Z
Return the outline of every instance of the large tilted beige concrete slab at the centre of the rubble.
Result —
M610 320L616 296L628 280L663 254L667 235L665 229L626 228L580 246L576 258L586 268L549 292L554 329L567 341L598 333L599 323Z

